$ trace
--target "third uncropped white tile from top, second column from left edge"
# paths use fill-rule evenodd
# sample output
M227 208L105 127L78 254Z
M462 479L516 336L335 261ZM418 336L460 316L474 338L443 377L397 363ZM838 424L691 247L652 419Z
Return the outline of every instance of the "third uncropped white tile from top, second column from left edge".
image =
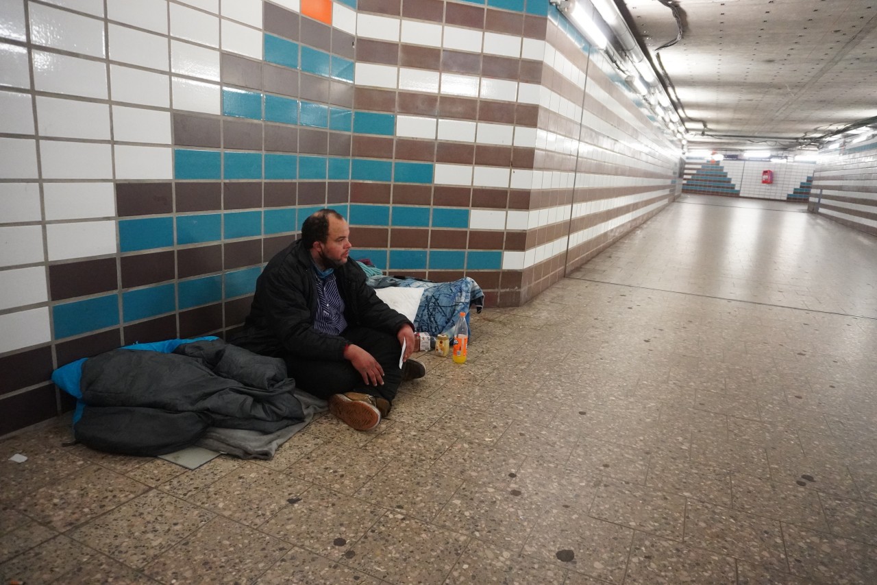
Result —
M110 106L37 96L40 136L110 140Z

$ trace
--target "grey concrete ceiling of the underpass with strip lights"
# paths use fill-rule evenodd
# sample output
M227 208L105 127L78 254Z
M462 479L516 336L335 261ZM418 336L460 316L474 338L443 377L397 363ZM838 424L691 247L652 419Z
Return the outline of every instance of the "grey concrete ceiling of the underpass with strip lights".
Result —
M673 4L681 20L681 40ZM790 149L877 123L877 0L618 0L688 148Z

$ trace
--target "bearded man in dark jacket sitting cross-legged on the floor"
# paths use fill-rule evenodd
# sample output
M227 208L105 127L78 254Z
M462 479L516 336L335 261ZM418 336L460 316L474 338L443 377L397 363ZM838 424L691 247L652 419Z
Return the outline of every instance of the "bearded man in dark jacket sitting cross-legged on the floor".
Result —
M256 281L244 329L232 343L286 360L296 386L329 401L356 430L374 429L405 379L424 376L408 359L414 327L366 284L348 262L350 227L321 209L304 220L302 237L275 255ZM402 345L403 368L399 368Z

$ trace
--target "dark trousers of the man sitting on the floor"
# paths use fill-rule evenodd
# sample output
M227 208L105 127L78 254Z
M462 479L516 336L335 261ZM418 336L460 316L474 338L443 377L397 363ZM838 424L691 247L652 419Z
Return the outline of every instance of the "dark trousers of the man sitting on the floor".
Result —
M361 392L393 401L402 381L402 370L399 369L402 346L396 336L367 327L348 327L341 336L372 354L381 364L383 386L367 386L360 372L346 359L319 361L290 356L286 358L286 365L289 376L296 379L296 387L323 400L328 400L332 394Z

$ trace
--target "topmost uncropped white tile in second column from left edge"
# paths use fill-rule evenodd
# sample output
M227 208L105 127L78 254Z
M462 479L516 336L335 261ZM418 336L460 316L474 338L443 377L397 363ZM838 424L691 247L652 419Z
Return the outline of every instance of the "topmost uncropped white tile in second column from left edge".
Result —
M30 3L31 40L43 45L103 57L103 20Z

